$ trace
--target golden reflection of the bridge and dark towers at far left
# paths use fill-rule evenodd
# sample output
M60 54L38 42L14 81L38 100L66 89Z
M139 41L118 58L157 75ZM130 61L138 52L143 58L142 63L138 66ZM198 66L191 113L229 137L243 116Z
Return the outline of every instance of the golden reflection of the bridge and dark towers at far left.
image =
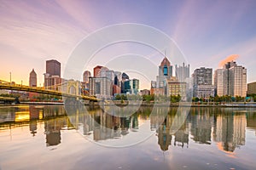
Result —
M26 126L29 126L32 137L35 137L38 133L38 124L44 123L47 146L61 143L61 128L73 127L68 123L66 112L61 106L5 106L0 107L0 115L0 133L9 129L10 139L12 129Z

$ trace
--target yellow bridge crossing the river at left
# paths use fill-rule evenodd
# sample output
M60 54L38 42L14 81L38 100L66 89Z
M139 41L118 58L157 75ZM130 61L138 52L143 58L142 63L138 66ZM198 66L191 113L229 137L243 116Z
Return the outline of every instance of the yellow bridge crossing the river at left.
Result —
M79 87L78 83L76 81L67 81L65 82L67 84L66 86L66 93L63 93L58 90L53 89L46 89L44 87L30 87L26 85L16 84L15 82L6 82L0 80L0 89L7 89L7 90L16 90L16 91L24 91L24 92L34 92L38 94L50 94L50 95L56 95L56 96L63 96L63 97L71 97L71 98L79 98L84 100L90 100L90 101L98 101L99 99L96 99L94 96L87 96L87 95L79 95ZM61 86L58 85L59 87ZM71 90L71 88L75 90ZM60 88L58 88L60 89ZM70 91L75 91L74 93L70 93Z

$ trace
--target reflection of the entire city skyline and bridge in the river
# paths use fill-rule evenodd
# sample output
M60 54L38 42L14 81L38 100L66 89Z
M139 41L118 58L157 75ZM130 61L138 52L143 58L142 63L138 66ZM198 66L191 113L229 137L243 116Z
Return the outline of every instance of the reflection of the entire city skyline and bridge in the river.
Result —
M0 133L3 130L29 126L32 137L38 135L38 126L44 126L47 146L61 144L61 132L76 129L95 141L129 138L130 133L139 134L141 125L150 122L148 131L154 132L160 150L171 146L189 148L189 143L216 143L219 150L234 152L245 144L246 128L256 129L256 113L220 108L192 108L189 116L177 131L171 127L177 109L170 109L166 117L150 116L152 107L141 107L126 117L112 116L101 109L84 114L67 116L63 106L24 105L0 107ZM158 116L159 115L159 116ZM158 124L161 121L160 125ZM24 132L23 132L24 133ZM11 137L10 133L10 138Z

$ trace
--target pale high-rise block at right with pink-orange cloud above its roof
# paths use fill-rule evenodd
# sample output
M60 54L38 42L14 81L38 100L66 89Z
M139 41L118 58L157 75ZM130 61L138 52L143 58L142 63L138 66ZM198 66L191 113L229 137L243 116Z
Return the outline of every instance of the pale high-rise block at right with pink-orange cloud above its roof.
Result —
M247 69L230 61L214 73L214 88L218 96L247 96Z

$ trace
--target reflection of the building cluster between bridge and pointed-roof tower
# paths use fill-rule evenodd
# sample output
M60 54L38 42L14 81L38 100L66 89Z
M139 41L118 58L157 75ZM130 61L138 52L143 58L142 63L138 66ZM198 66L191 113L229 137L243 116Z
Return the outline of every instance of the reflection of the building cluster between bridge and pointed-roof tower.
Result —
M78 130L87 136L92 136L93 140L106 140L106 139L119 139L130 132L137 132L139 122L139 114L134 113L131 116L123 115L113 116L119 112L113 112L112 108L108 110L112 111L111 115L102 111L102 109L96 109L90 111L77 111L73 113L73 116L69 116L73 125ZM72 114L71 114L72 115Z

